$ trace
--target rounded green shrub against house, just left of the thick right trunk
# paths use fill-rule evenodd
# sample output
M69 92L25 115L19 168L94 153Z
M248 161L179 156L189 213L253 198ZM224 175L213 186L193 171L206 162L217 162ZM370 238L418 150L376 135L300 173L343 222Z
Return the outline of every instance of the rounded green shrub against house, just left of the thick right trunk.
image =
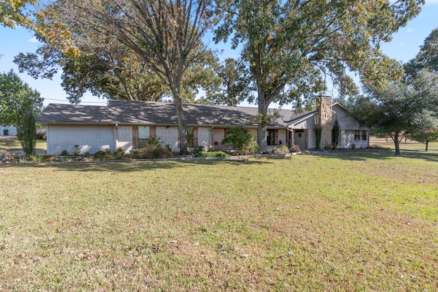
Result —
M222 144L235 148L237 155L254 154L258 149L253 134L242 126L229 128L227 136L222 140Z

